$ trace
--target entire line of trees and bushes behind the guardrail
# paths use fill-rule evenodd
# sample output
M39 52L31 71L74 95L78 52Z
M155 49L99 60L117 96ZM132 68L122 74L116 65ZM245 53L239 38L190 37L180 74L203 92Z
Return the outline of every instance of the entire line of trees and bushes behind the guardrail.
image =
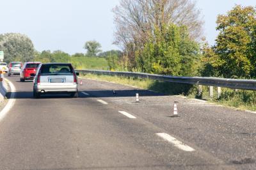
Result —
M113 9L115 44L122 50L102 52L99 42L84 44L86 54L60 50L36 52L26 35L0 35L5 61L67 62L104 58L109 70L182 76L256 77L256 8L236 5L218 15L214 45L203 36L204 21L195 1L120 0Z

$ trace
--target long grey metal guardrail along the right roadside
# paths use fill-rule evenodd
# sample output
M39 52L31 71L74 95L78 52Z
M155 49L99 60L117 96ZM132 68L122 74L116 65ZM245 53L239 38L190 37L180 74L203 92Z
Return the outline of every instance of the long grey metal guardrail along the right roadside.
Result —
M143 79L152 79L164 82L176 82L182 84L197 84L203 86L215 86L231 89L248 89L256 90L256 80L243 79L223 79L216 77L177 77L170 75L157 75L150 73L136 73L136 72L110 72L102 70L76 70L79 73L93 73L99 75L117 75L124 77L139 77Z

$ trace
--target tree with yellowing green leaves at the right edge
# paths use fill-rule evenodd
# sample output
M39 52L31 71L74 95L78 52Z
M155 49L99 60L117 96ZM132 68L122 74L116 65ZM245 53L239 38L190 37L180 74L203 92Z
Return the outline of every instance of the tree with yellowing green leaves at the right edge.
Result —
M223 77L256 76L256 10L236 5L227 15L219 15L216 44L206 51L212 66ZM210 54L209 54L210 53ZM210 57L209 57L210 56Z

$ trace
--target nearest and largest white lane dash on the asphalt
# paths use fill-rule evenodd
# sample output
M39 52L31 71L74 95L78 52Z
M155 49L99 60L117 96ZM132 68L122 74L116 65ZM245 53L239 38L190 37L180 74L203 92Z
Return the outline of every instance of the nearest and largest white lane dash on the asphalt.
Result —
M184 151L195 151L193 148L190 146L183 144L182 142L178 141L175 137L172 137L169 134L165 133L158 133L157 134L159 137L162 137L165 141L168 141L169 143L172 143L176 148L179 148L180 150Z

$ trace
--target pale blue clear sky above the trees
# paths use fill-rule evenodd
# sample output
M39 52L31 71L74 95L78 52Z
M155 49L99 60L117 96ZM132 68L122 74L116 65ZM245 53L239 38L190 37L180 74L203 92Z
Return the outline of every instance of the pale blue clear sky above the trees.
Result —
M113 45L115 25L111 10L119 0L0 0L0 34L28 35L35 49L86 52L85 42L97 40L102 50ZM197 0L205 20L204 36L213 45L216 17L235 4L256 6L256 0Z

